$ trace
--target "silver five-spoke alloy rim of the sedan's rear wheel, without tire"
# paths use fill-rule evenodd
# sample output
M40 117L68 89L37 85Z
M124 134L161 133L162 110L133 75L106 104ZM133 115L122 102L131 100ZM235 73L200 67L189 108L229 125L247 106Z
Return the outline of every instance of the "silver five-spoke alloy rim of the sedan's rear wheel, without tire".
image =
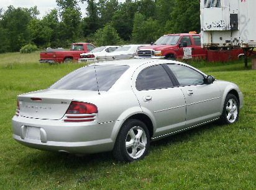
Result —
M147 136L140 126L130 129L126 136L126 151L132 158L139 158L145 152L147 145Z

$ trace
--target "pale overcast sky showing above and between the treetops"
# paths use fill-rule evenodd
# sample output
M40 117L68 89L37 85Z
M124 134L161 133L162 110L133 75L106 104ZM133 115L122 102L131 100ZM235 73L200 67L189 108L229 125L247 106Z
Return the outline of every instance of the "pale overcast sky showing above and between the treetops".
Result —
M119 0L119 2L124 2L125 0ZM30 8L37 6L37 9L40 11L39 17L42 18L43 15L46 15L48 12L50 12L51 9L54 9L57 7L55 0L0 0L0 8L3 8L4 10L7 9L8 6L14 6L14 7L24 7L24 8ZM81 4L81 12L83 14L83 17L85 17L85 9L86 4Z

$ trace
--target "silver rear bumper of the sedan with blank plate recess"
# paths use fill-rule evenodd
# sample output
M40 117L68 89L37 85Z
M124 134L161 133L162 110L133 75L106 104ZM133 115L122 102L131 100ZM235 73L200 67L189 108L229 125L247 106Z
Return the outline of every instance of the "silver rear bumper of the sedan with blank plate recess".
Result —
M111 151L114 123L66 123L60 120L12 118L13 137L34 149L68 153L97 153ZM32 130L34 129L34 134ZM37 133L38 131L38 133Z

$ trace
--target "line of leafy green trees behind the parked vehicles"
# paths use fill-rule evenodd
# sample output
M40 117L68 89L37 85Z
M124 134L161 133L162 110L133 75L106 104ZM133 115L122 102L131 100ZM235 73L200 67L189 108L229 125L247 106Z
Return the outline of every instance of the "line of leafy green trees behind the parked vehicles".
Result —
M166 33L199 31L199 1L56 0L57 8L39 19L37 7L0 8L0 53L67 47L76 41L95 45L150 43ZM82 17L78 2L87 4Z

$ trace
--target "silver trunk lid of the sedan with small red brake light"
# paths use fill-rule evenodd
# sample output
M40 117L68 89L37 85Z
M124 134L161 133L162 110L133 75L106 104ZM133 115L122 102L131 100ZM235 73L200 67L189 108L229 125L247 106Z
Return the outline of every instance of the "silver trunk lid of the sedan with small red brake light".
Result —
M36 119L62 119L72 100L97 92L81 90L39 90L19 95L20 116Z

